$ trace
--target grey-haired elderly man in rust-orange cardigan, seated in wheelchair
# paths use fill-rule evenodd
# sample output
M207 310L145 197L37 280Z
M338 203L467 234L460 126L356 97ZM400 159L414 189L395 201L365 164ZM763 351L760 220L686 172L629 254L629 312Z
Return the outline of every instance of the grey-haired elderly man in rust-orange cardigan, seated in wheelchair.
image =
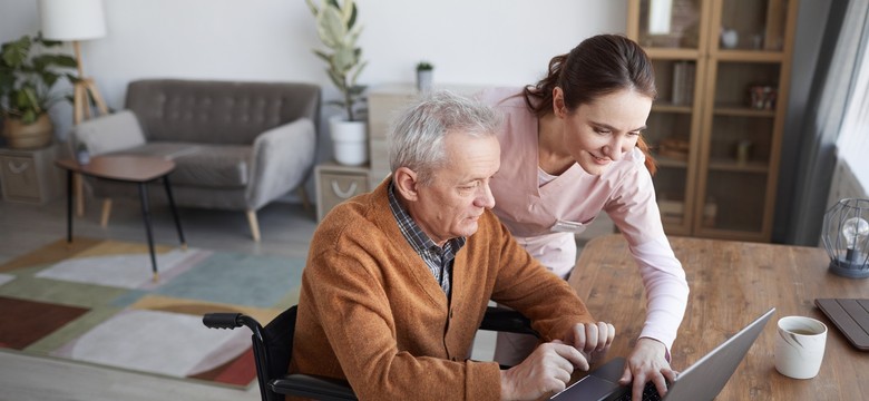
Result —
M363 400L525 400L565 388L615 329L490 212L498 116L436 92L390 137L392 175L314 233L291 372L346 379ZM521 312L541 344L521 363L469 360L489 300Z

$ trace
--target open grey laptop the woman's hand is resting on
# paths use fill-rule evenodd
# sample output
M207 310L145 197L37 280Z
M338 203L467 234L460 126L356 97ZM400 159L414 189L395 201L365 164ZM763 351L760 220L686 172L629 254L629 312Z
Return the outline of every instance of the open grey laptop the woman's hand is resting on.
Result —
M767 322L775 309L755 319L751 324L740 330L728 341L705 354L685 371L678 374L675 381L670 383L665 401L696 401L712 400L724 388L730 376L736 371L742 359L754 344ZM588 373L585 378L572 384L564 391L553 395L556 401L611 401L623 397L629 399L631 387L619 385L618 379L624 372L625 359L616 358ZM646 390L652 390L655 397L657 392L654 385L648 383ZM645 398L645 397L644 397Z

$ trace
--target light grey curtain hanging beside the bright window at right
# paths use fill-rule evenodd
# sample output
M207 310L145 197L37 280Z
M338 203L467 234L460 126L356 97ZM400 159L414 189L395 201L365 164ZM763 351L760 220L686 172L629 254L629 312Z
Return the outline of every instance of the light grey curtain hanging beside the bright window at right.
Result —
M817 246L836 167L836 141L857 88L866 51L869 0L832 1L795 162L792 208L784 242ZM785 167L787 168L787 167ZM782 169L787 172L788 169ZM781 194L780 194L781 196ZM783 199L787 202L788 199Z

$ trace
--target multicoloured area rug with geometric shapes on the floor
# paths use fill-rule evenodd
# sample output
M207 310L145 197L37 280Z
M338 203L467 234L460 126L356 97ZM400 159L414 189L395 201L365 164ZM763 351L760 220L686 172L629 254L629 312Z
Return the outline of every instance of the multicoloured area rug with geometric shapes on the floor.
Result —
M265 324L299 301L304 261L61 239L0 265L0 348L245 388L256 378L251 331L211 330L207 312Z

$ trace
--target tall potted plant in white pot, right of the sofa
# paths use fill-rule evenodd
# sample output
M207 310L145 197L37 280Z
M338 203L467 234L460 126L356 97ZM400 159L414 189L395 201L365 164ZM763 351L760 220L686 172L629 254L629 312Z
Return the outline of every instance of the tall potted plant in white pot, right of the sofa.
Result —
M328 63L326 74L341 92L340 100L329 101L339 106L344 116L330 119L330 130L335 148L335 159L345 165L361 165L368 162L365 146L365 123L362 97L365 87L357 84L367 61L362 49L357 46L362 26L357 25L359 10L353 0L305 0L316 17L320 40L331 51L314 49L314 53Z

